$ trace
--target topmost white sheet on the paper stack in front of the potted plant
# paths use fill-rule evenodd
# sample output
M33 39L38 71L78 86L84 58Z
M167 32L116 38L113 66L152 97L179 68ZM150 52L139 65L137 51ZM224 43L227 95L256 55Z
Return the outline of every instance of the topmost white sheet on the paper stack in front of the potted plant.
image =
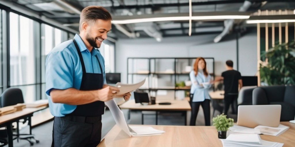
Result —
M259 138L258 134L230 134L226 140L260 144Z

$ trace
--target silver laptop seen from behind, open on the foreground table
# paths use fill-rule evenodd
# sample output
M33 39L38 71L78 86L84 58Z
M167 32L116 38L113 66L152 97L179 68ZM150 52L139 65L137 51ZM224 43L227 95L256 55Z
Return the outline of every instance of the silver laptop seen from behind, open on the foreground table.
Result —
M238 107L238 126L278 127L281 118L281 105L241 105Z

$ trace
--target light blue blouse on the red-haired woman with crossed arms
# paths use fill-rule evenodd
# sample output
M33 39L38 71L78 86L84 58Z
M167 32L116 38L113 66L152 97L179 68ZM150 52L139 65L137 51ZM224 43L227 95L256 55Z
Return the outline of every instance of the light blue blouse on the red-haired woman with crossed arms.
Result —
M203 71L198 71L197 76L195 76L194 71L189 73L189 77L191 79L191 91L190 93L194 94L193 102L204 101L205 99L210 99L208 89L212 86L212 84L203 84L201 83L210 82L211 76L207 77L204 75Z

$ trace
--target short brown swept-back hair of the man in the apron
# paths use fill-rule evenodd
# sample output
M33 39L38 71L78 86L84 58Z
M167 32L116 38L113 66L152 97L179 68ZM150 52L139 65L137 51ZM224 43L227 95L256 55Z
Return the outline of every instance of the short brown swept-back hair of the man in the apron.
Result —
M97 19L112 20L112 16L104 7L88 6L81 11L79 31L82 31L83 22L94 23Z

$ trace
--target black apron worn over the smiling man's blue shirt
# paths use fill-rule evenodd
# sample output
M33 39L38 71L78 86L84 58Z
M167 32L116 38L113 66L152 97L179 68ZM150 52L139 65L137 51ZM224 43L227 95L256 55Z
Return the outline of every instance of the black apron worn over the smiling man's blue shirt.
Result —
M75 39L73 39L73 42L74 42L76 50L78 52L79 59L81 61L82 71L83 71L81 86L80 86L79 90L87 91L87 90L101 89L102 86L104 85L103 74L86 73L83 57L82 57L81 51L79 49L79 46L78 46ZM97 56L95 56L95 57L96 57L97 61L99 62L98 57ZM101 72L103 73L101 63L99 63L99 67L101 69ZM101 122L101 115L102 114L104 114L104 102L103 101L95 101L95 102L84 104L84 105L78 105L77 108L72 113L67 114L63 118L72 117L70 119L71 121L74 120L76 122L81 121L81 122L85 122L85 123L89 123L87 121L90 121L90 123L92 123L91 121L97 122L97 118L100 118L100 122ZM53 126L53 128L54 128L54 126ZM53 131L53 133L54 133L54 131ZM82 133L82 132L75 132L75 133ZM100 126L99 131L97 133L99 133L101 136L101 126ZM81 135L83 135L83 134L81 134ZM54 146L54 138L52 138L52 146Z

